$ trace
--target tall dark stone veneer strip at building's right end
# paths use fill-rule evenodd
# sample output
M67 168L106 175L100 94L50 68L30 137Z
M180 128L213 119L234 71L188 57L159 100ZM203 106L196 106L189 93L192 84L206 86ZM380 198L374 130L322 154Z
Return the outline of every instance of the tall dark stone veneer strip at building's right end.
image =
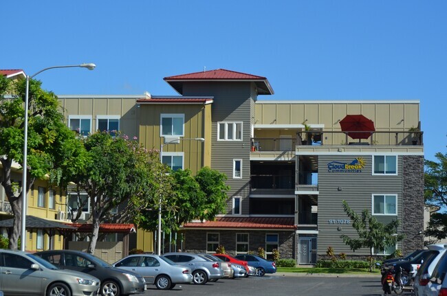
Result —
M424 248L424 157L409 155L402 157L403 174L403 219L402 253L408 254Z

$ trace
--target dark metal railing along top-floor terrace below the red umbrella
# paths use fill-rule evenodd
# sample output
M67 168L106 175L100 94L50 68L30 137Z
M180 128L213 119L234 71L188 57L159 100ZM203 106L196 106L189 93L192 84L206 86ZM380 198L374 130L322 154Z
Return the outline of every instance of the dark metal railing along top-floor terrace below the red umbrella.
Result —
M252 138L252 152L255 151L294 151L296 145L314 146L422 146L423 132L366 132L367 139L355 139L356 135L364 136L365 132L299 132L296 139ZM348 135L349 134L349 135Z

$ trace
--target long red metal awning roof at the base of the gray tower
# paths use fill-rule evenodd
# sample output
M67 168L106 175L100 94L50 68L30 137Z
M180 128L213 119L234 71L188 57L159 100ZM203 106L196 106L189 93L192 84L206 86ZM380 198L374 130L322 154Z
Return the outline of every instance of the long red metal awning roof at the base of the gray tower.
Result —
M203 223L186 223L184 229L194 228L239 228L239 229L285 229L294 230L294 218L272 218L272 217L220 217L215 221Z

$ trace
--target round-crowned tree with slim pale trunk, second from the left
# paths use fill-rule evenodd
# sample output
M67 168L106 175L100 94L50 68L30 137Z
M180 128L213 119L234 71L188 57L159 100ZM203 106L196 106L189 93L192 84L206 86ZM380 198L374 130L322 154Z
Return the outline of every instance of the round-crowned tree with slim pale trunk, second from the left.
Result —
M89 196L91 209L91 241L88 252L94 253L99 225L107 221L125 223L133 220L135 207L151 204L153 187L161 185L161 173L156 169L157 152L148 151L136 139L116 137L98 132L82 139L86 150L85 165L64 178ZM113 208L122 206L116 216Z

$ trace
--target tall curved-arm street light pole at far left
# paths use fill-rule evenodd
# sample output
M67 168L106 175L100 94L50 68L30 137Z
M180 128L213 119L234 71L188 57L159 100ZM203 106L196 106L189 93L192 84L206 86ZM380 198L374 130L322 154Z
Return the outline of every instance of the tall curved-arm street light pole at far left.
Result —
M89 70L95 69L96 65L93 63L88 64L80 64L80 65L66 65L66 66L53 66L47 67L45 69L41 69L41 71L34 73L33 75L26 76L26 91L25 91L25 131L24 131L24 140L23 140L23 176L22 176L22 220L21 220L21 251L25 251L25 242L26 242L26 194L27 194L27 185L26 185L26 174L27 174L27 154L28 154L28 100L30 96L30 78L33 78L39 73L43 71L47 71L55 68L74 68L81 67L87 68Z

